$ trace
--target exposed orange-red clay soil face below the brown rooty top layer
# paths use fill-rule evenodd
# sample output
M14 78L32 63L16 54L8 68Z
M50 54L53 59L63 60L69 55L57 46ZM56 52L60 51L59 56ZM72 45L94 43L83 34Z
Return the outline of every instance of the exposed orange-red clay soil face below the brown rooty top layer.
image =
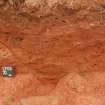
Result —
M52 17L30 25L0 21L0 66L16 68L13 78L0 75L1 102L105 105L104 25Z

